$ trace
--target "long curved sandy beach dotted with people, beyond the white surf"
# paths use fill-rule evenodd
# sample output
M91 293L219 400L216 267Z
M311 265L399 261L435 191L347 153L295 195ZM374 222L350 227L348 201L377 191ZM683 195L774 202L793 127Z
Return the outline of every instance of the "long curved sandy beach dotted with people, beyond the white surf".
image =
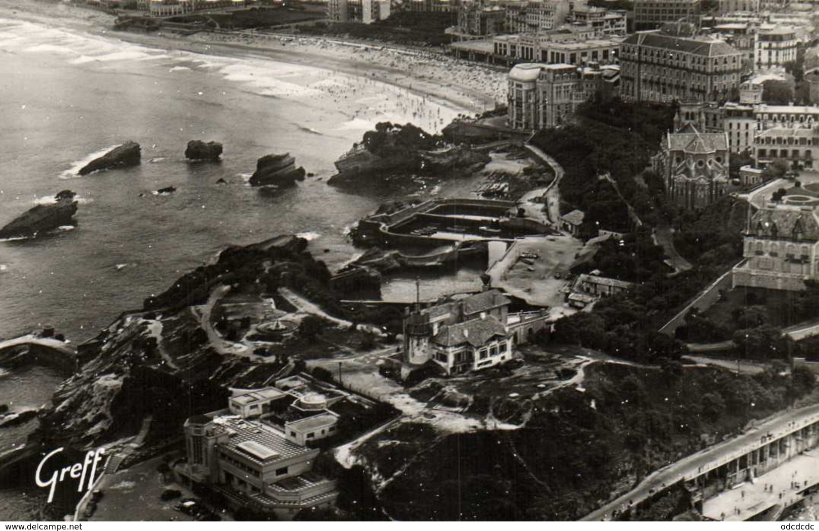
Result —
M115 36L126 43L211 56L241 56L309 65L389 83L440 105L473 113L491 110L506 99L506 74L421 49L354 43L337 38L287 34L216 34L188 37L167 31L152 34L114 31L114 17L67 3L0 0L0 17Z

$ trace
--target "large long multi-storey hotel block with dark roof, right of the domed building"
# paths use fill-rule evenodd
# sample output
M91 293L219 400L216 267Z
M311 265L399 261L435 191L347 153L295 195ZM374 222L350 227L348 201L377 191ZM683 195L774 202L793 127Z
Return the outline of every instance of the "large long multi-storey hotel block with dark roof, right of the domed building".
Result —
M724 101L740 88L742 53L715 38L638 32L620 47L628 101Z

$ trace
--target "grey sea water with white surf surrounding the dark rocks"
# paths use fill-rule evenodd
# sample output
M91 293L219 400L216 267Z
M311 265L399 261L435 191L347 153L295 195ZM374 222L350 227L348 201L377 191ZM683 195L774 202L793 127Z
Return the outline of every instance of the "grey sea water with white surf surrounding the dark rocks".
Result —
M0 17L0 225L61 190L79 199L75 227L0 241L0 338L48 325L75 343L87 340L226 246L278 234L304 236L339 268L361 252L346 236L351 226L393 196L328 186L333 161L377 122L437 132L471 112L366 73L251 52L146 47L113 33ZM185 160L192 139L222 142L223 160ZM142 164L79 177L84 164L128 140L142 146ZM247 184L256 160L285 151L314 176L260 196ZM164 187L176 191L152 193ZM421 188L416 193L447 192ZM451 272L444 284L429 280L428 296L479 286L469 270ZM386 292L412 297L414 281L398 277ZM39 369L0 374L0 403L46 402L58 382ZM0 446L25 441L34 422L0 434ZM26 499L0 490L0 520L20 519Z

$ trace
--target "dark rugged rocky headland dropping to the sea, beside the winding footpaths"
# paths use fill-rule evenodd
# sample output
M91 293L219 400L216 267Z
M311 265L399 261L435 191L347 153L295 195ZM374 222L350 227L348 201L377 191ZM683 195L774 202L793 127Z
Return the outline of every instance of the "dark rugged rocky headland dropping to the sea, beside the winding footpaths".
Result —
M150 451L179 439L188 416L224 407L229 387L259 387L296 370L295 358L260 360L226 347L233 343L216 335L210 295L260 297L287 286L334 300L329 272L305 252L306 243L280 236L226 249L216 263L187 273L142 311L124 313L80 344L82 365L57 389L30 446L97 447L137 434L150 418Z

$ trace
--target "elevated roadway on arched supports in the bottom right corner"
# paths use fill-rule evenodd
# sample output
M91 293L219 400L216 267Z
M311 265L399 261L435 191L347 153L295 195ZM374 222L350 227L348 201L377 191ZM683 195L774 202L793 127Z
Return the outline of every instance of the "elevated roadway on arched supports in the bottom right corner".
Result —
M653 472L636 488L584 516L581 521L611 520L614 510L623 511L631 504L644 501L666 486L675 484L681 479L695 478L707 470L713 470L758 448L760 435L772 434L776 439L778 436L793 431L794 426L808 425L816 421L819 421L819 404L784 412L762 422L744 434L718 443L711 448L705 448Z

